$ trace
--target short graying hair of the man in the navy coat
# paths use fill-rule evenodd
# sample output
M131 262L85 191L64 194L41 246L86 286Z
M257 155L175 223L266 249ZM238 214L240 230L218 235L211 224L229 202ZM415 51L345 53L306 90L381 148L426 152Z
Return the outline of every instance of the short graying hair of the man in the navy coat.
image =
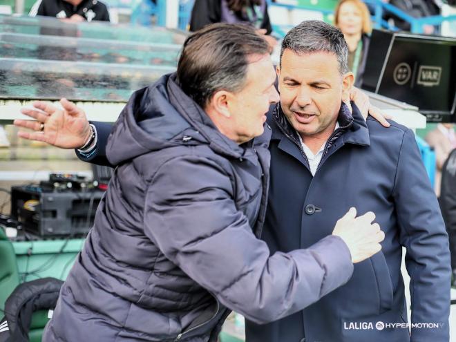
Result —
M348 46L343 33L336 26L319 20L307 20L288 31L282 41L282 56L286 50L296 54L326 52L333 53L339 61L341 75L348 72Z

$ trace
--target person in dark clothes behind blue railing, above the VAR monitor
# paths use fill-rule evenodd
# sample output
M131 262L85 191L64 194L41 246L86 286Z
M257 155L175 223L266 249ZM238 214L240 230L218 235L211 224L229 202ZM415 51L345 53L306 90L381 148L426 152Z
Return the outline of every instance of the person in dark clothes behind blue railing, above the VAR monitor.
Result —
M440 14L440 0L390 0L388 2L414 18L430 17L431 15ZM410 31L410 23L399 19L395 15L388 13L385 16L385 19L392 21L400 30ZM425 35L432 35L435 31L436 29L433 25L423 26L423 33Z

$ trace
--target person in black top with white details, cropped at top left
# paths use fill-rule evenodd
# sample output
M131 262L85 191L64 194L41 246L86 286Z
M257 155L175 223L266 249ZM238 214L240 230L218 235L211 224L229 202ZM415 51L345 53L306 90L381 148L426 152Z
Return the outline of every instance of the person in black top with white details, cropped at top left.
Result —
M38 0L29 15L57 17L72 22L109 21L108 8L98 0Z

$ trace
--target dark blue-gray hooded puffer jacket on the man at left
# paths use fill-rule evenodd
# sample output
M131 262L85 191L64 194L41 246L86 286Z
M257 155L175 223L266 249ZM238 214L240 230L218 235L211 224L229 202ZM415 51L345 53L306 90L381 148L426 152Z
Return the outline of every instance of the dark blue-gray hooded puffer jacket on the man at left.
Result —
M258 239L270 135L229 140L174 75L134 93L44 341L216 341L227 308L265 323L346 283L353 266L339 237L273 256Z

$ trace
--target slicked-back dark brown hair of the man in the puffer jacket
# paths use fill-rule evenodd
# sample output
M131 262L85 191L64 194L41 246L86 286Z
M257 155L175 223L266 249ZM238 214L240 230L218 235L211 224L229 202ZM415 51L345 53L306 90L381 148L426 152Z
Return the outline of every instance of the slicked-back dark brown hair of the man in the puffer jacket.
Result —
M187 37L178 63L182 91L205 108L216 91L240 91L248 57L269 53L267 41L253 27L213 23Z

